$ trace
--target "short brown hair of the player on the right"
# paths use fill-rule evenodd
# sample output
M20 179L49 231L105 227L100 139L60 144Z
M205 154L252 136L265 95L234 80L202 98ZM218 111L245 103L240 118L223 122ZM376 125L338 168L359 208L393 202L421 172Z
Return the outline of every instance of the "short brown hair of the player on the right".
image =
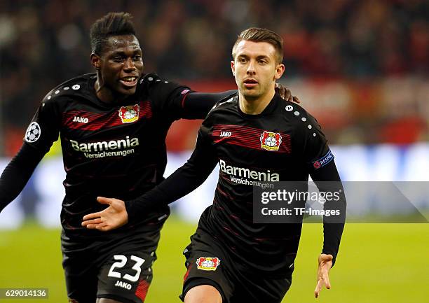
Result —
M283 39L274 31L269 29L261 29L259 27L250 27L245 29L238 35L236 43L234 43L232 55L236 59L236 47L240 41L247 40L253 42L267 42L274 46L277 57L277 63L283 61Z

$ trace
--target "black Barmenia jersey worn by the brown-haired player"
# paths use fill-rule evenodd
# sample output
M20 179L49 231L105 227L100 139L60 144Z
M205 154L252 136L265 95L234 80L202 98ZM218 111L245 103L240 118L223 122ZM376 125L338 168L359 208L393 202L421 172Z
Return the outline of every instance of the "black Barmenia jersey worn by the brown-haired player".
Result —
M189 161L147 195L128 202L130 221L139 209L170 202L196 188L219 163L213 205L198 228L236 256L237 267L273 275L290 274L297 253L301 224L255 224L252 185L275 181L308 181L308 175L333 160L318 122L304 108L285 103L277 94L259 115L240 111L238 96L207 115ZM328 181L328 180L326 180ZM334 181L334 180L331 180ZM189 184L189 185L187 185ZM334 258L342 225L327 240ZM332 243L334 243L332 245Z

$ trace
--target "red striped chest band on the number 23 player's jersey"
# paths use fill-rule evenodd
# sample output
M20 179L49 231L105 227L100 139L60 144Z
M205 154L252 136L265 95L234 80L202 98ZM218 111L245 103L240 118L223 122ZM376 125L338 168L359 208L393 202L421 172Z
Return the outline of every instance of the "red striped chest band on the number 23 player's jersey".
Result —
M139 104L139 119L151 118L152 108L149 101ZM79 118L80 121L74 121ZM88 122L81 122L88 119ZM138 120L135 120L137 122ZM133 122L132 122L133 123ZM69 129L99 130L118 125L124 125L118 111L109 113L90 113L88 111L67 111L62 115L62 125Z

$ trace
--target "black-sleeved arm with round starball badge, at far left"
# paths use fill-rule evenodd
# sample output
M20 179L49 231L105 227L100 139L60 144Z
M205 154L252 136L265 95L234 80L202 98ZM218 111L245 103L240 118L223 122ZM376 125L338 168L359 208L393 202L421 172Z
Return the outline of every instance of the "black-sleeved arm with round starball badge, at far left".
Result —
M0 177L0 211L13 201L27 184L37 164L57 139L59 127L53 102L43 100L24 137L20 151Z

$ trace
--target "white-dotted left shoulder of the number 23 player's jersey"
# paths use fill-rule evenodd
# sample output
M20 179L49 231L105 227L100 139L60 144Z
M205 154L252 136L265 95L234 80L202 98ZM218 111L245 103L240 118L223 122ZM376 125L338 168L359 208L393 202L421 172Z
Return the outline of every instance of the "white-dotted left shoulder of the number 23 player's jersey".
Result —
M76 78L71 78L50 90L50 92L43 97L43 103L54 104L70 98L88 97L92 92L88 84L91 79L95 80L95 78L95 73L86 73Z

